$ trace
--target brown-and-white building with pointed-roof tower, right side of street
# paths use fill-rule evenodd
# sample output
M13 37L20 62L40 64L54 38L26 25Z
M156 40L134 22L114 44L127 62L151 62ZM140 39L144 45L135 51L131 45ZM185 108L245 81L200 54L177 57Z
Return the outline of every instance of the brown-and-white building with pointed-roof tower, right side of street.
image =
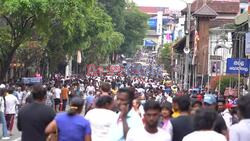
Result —
M195 0L192 3L190 30L191 53L189 54L190 59L188 60L190 64L188 79L190 87L205 86L209 78L214 75L211 73L214 66L220 66L217 67L220 68L219 72L218 69L216 70L217 73L224 72L225 67L223 66L222 68L222 64L226 63L226 58L231 54L227 48L231 48L232 46L230 34L232 31L228 30L230 26L227 25L234 23L234 18L239 13L239 9L240 3L237 0ZM187 17L187 8L182 10L182 14ZM220 39L222 36L226 36L228 40ZM179 58L177 58L179 60L177 64L183 64L180 60L185 55L183 53L185 42L186 39L184 37L174 45L174 48L180 54ZM224 44L226 48L224 48L224 46L221 48L219 44ZM210 63L211 61L212 63ZM184 72L180 74L184 74ZM178 80L184 78L183 75L178 76Z

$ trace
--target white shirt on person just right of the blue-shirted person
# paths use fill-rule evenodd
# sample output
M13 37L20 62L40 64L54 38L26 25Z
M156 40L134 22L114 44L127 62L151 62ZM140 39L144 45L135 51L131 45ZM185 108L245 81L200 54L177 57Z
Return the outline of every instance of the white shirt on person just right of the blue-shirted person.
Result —
M111 110L101 108L90 110L85 118L90 122L92 141L107 141L116 117L117 114Z

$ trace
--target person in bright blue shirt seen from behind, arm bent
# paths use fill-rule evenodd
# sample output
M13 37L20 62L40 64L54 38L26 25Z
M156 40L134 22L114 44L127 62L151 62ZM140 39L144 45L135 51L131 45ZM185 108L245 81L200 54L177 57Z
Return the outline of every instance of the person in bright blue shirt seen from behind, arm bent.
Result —
M74 97L68 112L59 113L45 129L46 134L57 132L58 141L91 141L90 123L80 114L84 100Z

